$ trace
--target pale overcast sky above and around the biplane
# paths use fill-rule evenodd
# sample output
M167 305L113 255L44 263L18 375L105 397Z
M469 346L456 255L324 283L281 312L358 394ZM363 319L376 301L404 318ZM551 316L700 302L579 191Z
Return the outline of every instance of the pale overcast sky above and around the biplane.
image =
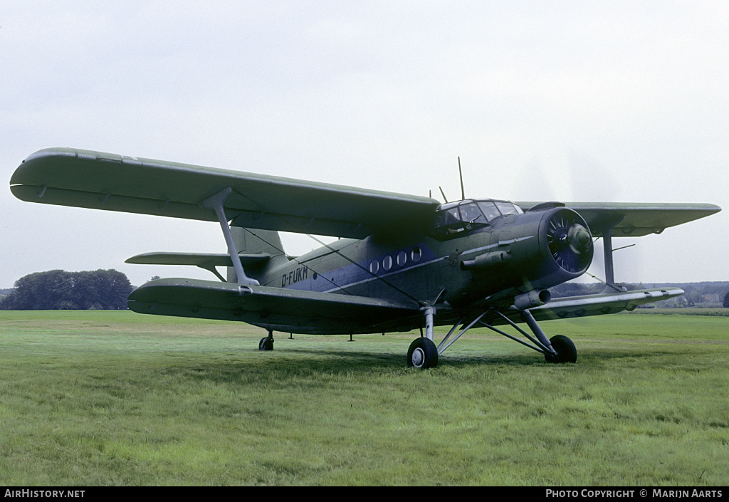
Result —
M454 199L460 156L471 197L718 204L615 239L636 244L615 278L729 280L725 0L3 0L0 63L6 183L32 152L76 147ZM123 262L225 252L216 223L9 188L0 209L0 287L51 269L214 279Z

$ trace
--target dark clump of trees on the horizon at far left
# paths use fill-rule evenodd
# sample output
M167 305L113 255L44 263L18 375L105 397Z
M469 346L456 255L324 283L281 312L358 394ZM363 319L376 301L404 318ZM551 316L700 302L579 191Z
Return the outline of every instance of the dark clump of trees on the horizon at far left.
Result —
M117 270L36 272L15 281L2 310L118 310L134 287Z

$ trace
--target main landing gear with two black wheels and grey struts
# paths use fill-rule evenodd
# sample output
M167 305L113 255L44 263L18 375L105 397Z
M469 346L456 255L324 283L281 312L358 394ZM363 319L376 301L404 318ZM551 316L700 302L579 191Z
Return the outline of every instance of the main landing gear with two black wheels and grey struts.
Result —
M518 312L521 320L523 320L523 322L529 326L533 334L530 335L529 333L524 331L502 312L494 309L488 309L486 312L483 312L483 314L480 314L479 316L470 320L468 323L464 322L466 321L465 318L461 318L456 324L453 325L451 331L448 331L448 334L445 335L443 341L441 341L440 344L436 347L433 342L433 317L435 314L435 309L434 307L426 307L425 336L421 336L420 338L415 339L413 343L410 344L410 348L408 349L408 366L413 366L415 368L433 368L434 366L437 366L438 356L440 354L443 354L443 352L445 352L448 347L451 347L454 341L463 336L464 333L469 331L469 329L480 326L486 326L486 328L490 329L491 331L506 336L508 339L512 339L522 345L525 345L526 347L529 347L532 350L541 352L542 354L544 354L547 363L574 363L577 361L577 349L574 347L572 340L564 335L557 335L553 336L550 339L547 339L547 335L544 331L542 331L542 328L539 327L539 324L537 324L537 320L534 319L534 316L531 314L531 312L529 312L529 310L516 309L515 307L512 307L512 309ZM518 339L515 336L512 336L509 333L506 333L499 328L495 328L493 325L486 323L486 321L484 321L483 319L487 316L487 314L491 314L488 317L489 319L494 319L496 321L499 321L499 323L503 322L511 325L512 328L525 336L526 339L528 339L531 343ZM451 336L453 335L453 333L456 332L459 326L462 326L461 331L459 331L456 336L453 336L453 338L451 338Z

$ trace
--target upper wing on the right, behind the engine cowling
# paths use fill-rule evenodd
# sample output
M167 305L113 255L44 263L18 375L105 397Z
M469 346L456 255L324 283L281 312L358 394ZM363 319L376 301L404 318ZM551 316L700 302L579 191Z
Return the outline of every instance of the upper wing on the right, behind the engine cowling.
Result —
M517 202L523 209L538 202ZM631 204L623 202L566 202L585 218L593 237L601 237L612 228L613 237L640 237L661 233L668 227L682 225L713 215L722 209L714 204Z

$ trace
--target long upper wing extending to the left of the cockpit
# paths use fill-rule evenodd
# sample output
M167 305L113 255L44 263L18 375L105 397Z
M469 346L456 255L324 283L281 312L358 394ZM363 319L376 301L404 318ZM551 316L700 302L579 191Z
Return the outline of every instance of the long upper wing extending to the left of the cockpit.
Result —
M17 168L23 201L217 221L202 201L226 188L225 214L247 228L362 239L378 228L425 221L428 197L330 185L88 150L48 148Z

